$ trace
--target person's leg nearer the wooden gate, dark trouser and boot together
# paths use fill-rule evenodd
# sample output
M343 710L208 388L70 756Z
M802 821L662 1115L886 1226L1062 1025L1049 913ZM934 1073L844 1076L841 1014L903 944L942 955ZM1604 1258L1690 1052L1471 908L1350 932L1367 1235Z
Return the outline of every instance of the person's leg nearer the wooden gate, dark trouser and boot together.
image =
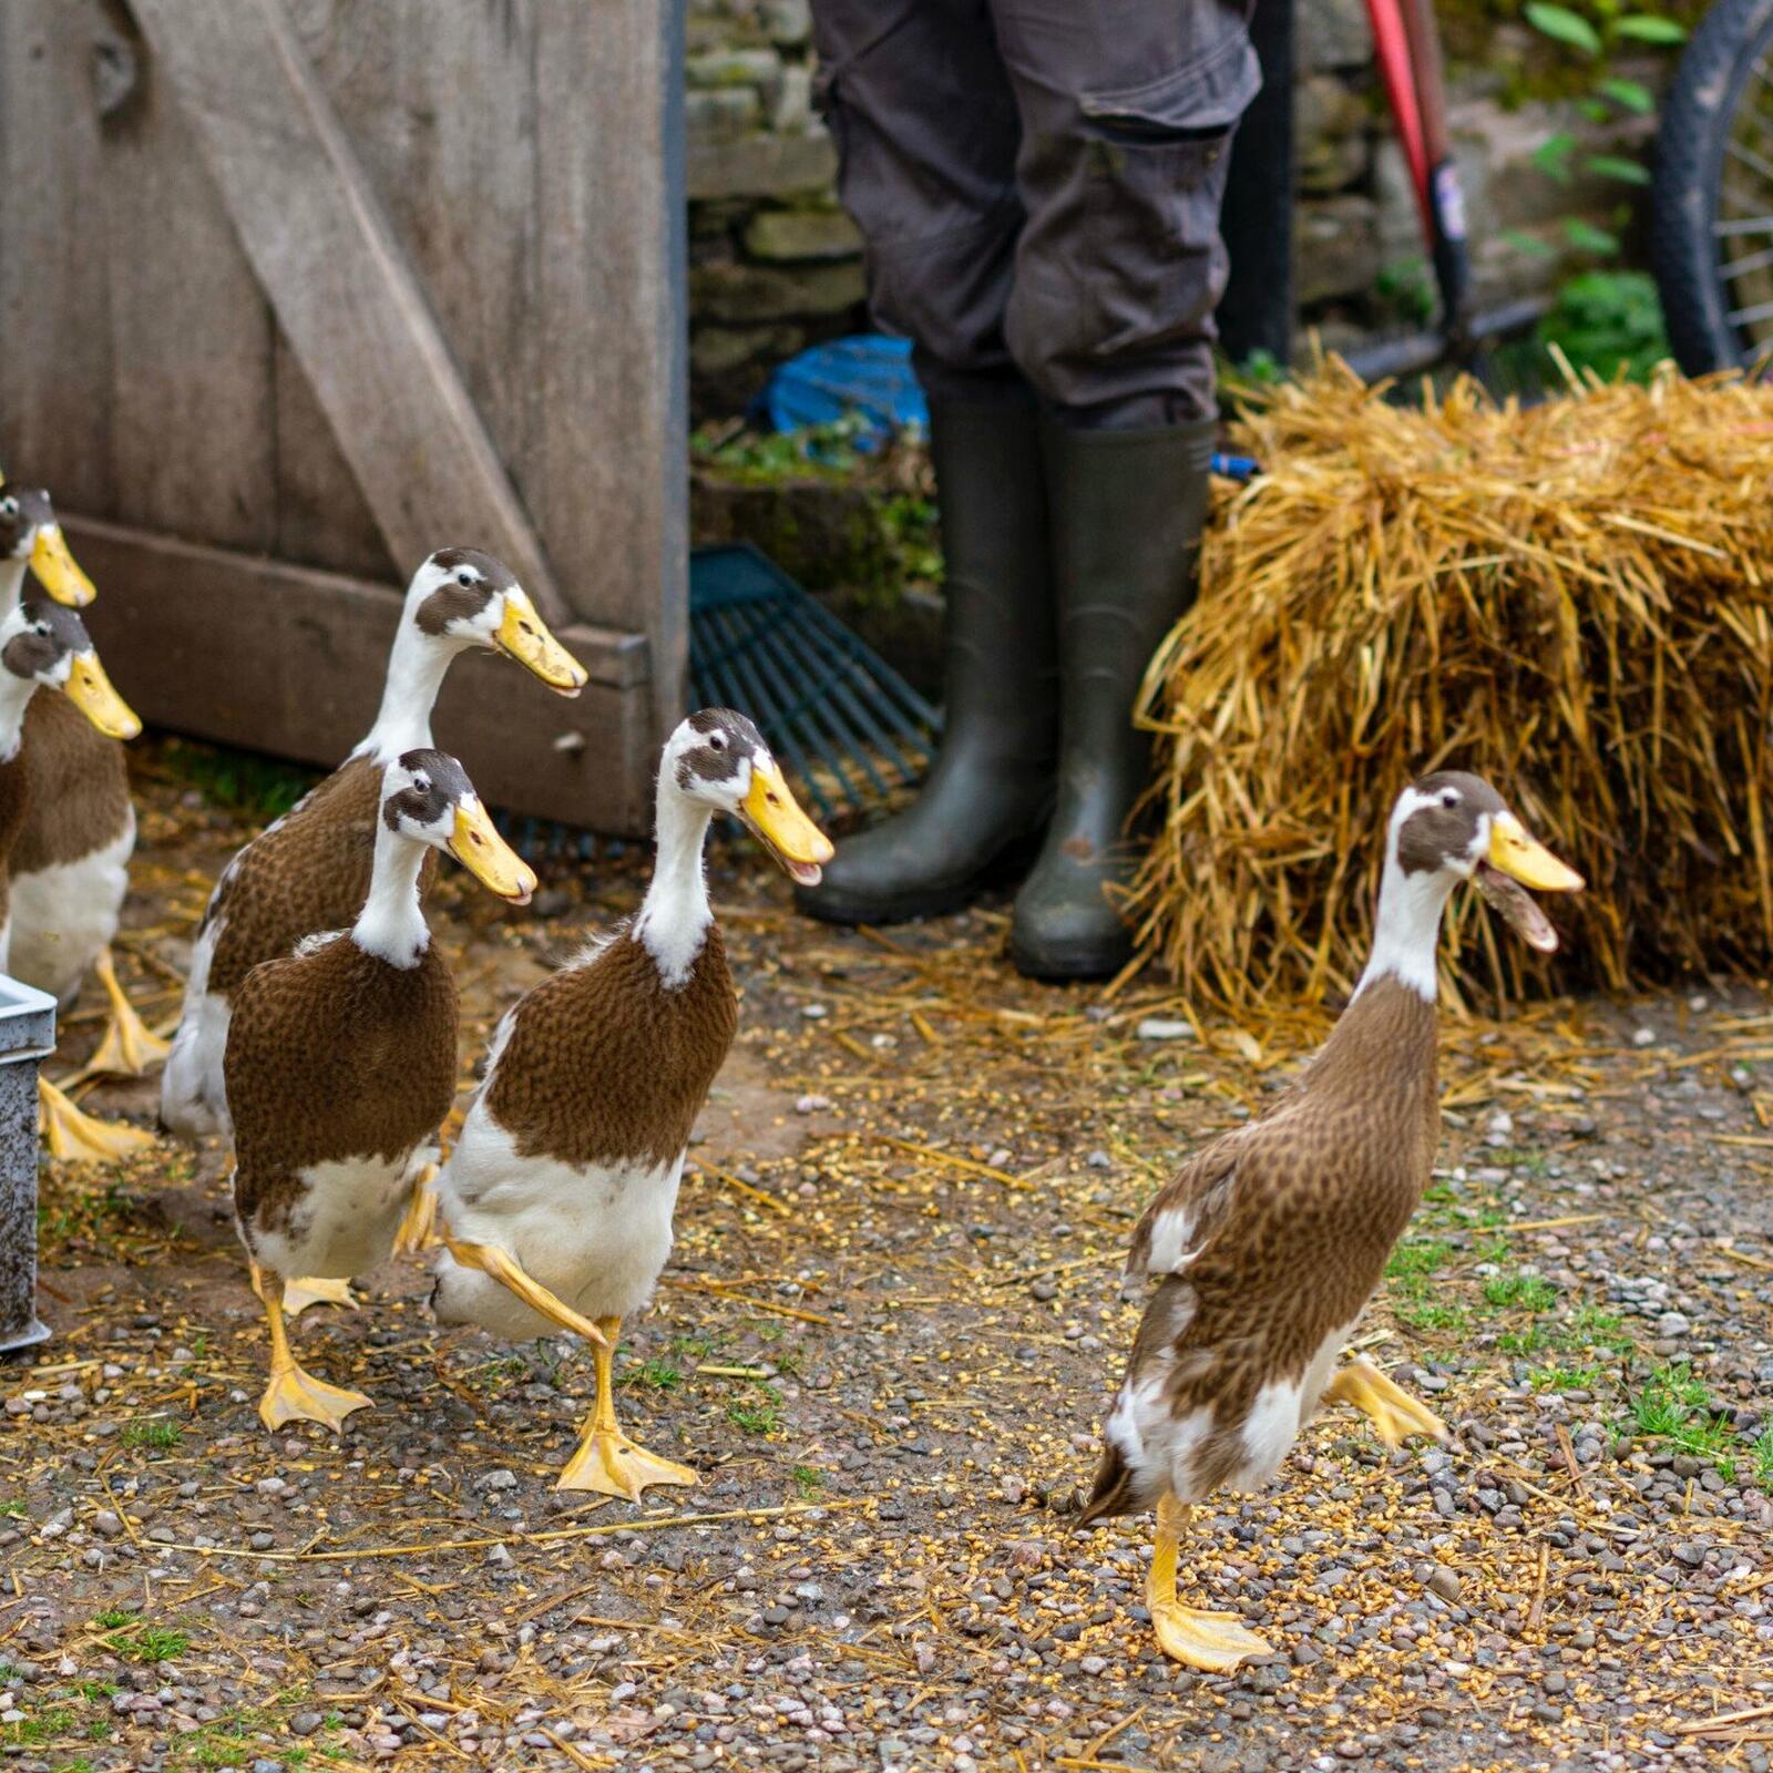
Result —
M1051 808L1057 667L1039 410L1004 339L1021 140L984 0L816 0L840 195L876 319L915 342L947 562L941 755L798 894L837 922L954 910Z

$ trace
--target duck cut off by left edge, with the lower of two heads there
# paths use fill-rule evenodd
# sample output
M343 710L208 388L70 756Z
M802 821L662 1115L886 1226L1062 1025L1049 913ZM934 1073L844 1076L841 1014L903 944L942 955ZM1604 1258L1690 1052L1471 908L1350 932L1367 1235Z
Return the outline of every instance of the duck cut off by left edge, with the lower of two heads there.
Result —
M12 855L30 823L34 789L43 771L32 752L41 730L28 711L39 690L59 691L108 739L133 739L142 722L112 688L92 637L78 613L48 599L16 603L0 619L0 972L12 972ZM37 1096L53 1156L117 1158L152 1144L140 1128L106 1126L82 1113L48 1078Z

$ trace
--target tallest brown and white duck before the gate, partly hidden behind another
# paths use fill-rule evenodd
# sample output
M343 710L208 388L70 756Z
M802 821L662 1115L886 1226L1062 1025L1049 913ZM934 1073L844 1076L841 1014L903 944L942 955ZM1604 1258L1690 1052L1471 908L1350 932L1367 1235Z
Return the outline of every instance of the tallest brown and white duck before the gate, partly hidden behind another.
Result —
M381 771L404 752L431 748L443 674L470 647L509 654L560 695L585 684L585 668L548 633L507 566L473 548L441 548L426 560L406 590L381 711L363 743L252 839L209 895L161 1080L160 1117L170 1131L227 1133L222 1055L234 996L261 961L356 917L369 890Z

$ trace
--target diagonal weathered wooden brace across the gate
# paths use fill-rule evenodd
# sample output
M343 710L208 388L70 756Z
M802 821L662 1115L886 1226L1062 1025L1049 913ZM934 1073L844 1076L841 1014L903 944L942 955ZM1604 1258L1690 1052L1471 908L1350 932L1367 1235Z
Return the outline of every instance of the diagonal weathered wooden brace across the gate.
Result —
M133 5L390 555L466 525L557 621L535 527L280 0Z

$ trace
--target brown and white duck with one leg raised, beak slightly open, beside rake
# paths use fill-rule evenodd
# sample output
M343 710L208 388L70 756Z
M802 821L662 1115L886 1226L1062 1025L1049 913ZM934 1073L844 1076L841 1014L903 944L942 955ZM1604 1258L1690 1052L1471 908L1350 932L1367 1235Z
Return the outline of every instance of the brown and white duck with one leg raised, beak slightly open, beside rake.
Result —
M571 1328L489 1271L496 1250L601 1332L596 1402L560 1489L638 1500L652 1484L695 1482L621 1429L612 1371L622 1319L651 1300L670 1254L690 1131L738 1028L702 872L716 812L739 819L796 883L817 885L832 844L762 734L732 709L690 715L660 762L640 910L505 1012L436 1181L438 1323L507 1340Z

